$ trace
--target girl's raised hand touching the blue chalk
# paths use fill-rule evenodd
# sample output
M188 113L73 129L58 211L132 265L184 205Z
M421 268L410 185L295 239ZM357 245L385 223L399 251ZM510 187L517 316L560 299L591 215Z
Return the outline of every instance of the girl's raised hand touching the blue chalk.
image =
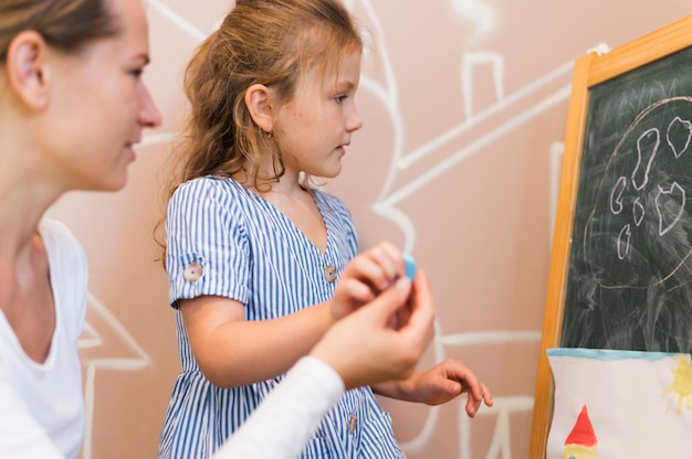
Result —
M373 301L380 291L389 288L401 276L406 267L401 253L391 243L382 242L374 248L354 257L342 274L332 299L335 319L355 311Z

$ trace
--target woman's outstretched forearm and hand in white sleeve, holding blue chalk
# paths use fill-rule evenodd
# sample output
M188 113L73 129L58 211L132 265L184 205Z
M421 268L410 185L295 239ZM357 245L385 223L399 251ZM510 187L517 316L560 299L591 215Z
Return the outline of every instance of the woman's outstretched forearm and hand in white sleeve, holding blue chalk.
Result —
M400 278L332 327L213 459L297 457L345 388L409 375L430 342L434 318L422 274L409 302L410 291L410 281ZM408 306L408 321L391 330L391 316Z

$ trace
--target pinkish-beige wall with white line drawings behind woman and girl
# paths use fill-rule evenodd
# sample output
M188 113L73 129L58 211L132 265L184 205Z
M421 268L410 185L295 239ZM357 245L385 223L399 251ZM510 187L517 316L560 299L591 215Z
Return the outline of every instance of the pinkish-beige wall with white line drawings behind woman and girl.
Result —
M126 190L74 193L52 211L91 263L86 459L156 453L178 361L151 228L168 141L185 114L181 68L231 4L148 1L154 62L145 77L165 122L138 149ZM682 18L689 2L347 4L375 35L378 60L368 57L357 99L365 127L327 188L350 206L364 248L390 239L428 271L439 320L424 365L460 359L496 401L471 423L459 401L382 405L410 459L524 458L574 60Z

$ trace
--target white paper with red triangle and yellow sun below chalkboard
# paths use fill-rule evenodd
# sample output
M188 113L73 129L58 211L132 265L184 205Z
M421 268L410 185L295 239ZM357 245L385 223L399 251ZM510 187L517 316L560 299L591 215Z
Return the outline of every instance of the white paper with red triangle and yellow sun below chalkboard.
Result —
M690 354L547 353L555 381L547 459L692 458Z

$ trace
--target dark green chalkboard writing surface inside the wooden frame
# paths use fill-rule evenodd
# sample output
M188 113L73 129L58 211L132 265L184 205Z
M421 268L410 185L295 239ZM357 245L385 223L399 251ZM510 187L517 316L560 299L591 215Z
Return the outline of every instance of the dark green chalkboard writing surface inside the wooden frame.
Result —
M692 351L692 49L589 89L560 345Z

